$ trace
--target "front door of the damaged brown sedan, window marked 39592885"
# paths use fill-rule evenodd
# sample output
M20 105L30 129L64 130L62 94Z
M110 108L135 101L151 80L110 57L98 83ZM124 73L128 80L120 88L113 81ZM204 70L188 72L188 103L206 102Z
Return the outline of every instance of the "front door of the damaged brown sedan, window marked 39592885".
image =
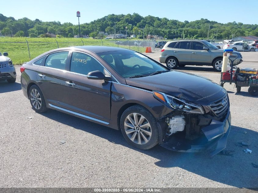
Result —
M106 76L111 74L95 58L82 52L72 52L70 64L66 74L70 84L65 96L66 109L109 123L111 82L91 80L87 74L95 70Z

